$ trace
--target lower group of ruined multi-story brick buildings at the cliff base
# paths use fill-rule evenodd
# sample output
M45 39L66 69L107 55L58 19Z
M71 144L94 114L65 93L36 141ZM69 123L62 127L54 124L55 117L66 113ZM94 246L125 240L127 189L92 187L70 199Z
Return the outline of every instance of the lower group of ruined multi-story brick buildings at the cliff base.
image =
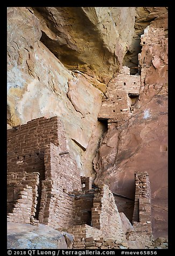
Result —
M137 183L139 179L136 174ZM141 181L144 180L141 175ZM150 209L147 189L140 183L136 188L133 217L136 233L129 239L135 239L144 225L144 218L135 217L143 215L142 201L146 200ZM74 234L75 248L87 247L89 241L85 239L90 237L97 244L103 238L118 243L126 240L113 193L105 184L92 188L91 177L79 175L57 117L37 118L8 130L8 222L42 223L70 232ZM150 218L147 224L151 227ZM145 228L144 232L150 234L151 229ZM105 246L102 240L101 246Z

